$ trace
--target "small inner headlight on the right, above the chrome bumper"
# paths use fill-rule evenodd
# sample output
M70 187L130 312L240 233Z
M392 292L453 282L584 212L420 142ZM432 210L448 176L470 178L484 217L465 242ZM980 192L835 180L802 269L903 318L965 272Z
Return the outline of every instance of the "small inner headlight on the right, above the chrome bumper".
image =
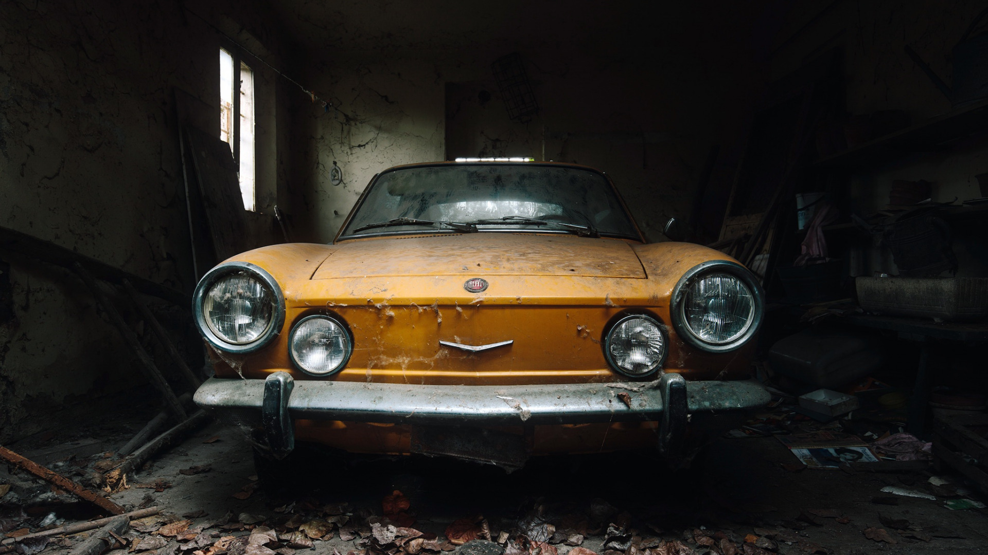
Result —
M666 357L662 325L643 314L625 316L608 332L604 353L618 372L631 377L648 375Z

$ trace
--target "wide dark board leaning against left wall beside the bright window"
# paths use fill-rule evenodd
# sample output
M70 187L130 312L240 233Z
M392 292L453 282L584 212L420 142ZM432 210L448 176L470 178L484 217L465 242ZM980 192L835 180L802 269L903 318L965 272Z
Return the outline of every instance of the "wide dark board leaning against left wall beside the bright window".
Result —
M212 244L223 261L249 250L237 166L230 145L195 127L186 132Z

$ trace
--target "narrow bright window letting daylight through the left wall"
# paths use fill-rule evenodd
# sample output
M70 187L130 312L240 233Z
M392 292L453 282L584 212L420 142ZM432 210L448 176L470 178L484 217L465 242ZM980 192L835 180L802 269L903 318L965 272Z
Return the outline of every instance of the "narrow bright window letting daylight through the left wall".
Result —
M244 209L254 202L254 72L226 49L219 49L219 138L230 145Z

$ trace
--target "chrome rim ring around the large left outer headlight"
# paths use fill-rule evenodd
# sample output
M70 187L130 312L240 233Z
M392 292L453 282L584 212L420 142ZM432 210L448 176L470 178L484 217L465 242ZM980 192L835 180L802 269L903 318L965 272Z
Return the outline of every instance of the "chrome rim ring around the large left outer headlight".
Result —
M240 272L251 274L270 289L275 302L275 309L272 312L271 323L268 324L268 328L263 334L251 343L237 345L223 341L212 331L206 322L203 304L206 300L206 293L216 281ZM260 266L249 262L225 262L207 272L206 276L200 279L199 284L196 285L196 292L193 293L192 299L192 310L196 318L196 327L199 328L199 333L206 340L206 343L218 351L234 355L244 355L262 349L282 333L282 326L285 325L285 295L282 293L282 287L275 278L272 278L271 274L268 274Z

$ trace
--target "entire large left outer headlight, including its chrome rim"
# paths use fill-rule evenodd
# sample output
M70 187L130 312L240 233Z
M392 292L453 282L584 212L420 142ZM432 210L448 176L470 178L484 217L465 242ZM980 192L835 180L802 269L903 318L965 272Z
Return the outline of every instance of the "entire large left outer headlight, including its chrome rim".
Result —
M228 262L200 280L193 313L209 345L227 353L252 353L281 333L285 298L278 281L264 269Z

